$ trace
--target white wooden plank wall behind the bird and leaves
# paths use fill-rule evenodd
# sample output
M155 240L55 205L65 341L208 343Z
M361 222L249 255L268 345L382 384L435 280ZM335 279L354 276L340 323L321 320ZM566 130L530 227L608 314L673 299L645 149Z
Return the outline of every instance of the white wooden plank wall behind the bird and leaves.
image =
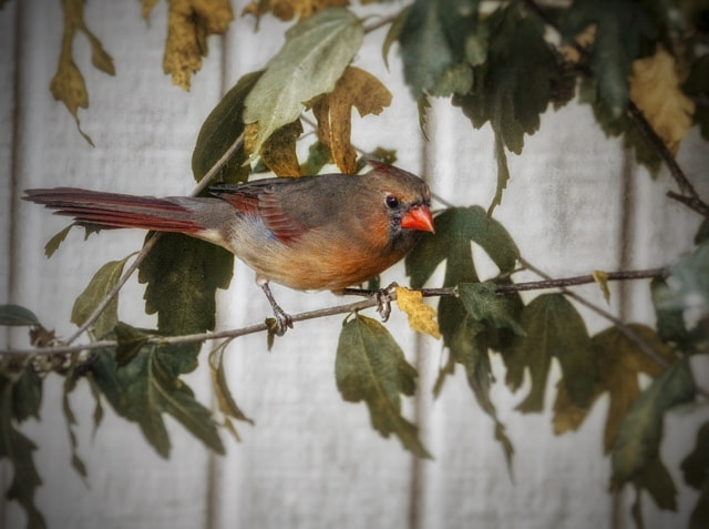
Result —
M244 3L233 1L235 12ZM147 23L140 16L138 1L86 2L88 24L116 67L115 79L94 70L86 40L76 39L76 62L91 100L80 118L96 144L91 147L49 92L61 40L60 2L10 0L0 12L0 303L32 308L60 336L72 333L73 299L95 269L138 248L144 234L104 233L84 242L79 232L71 233L48 261L43 245L66 222L21 202L22 190L72 185L156 195L189 192L189 157L202 121L242 74L261 68L278 50L286 28L266 17L255 34L253 19L236 20L228 35L209 39L209 57L185 93L162 73L166 3L155 7ZM394 100L379 118L356 118L353 141L363 149L397 149L402 167L424 175L454 204L486 206L495 185L490 130L474 131L458 110L436 101L425 144L395 48L391 71L382 64L384 32L368 35L356 62L392 88ZM691 247L699 220L664 196L671 187L665 171L653 181L626 156L619 142L598 131L587 108L549 111L542 132L526 140L523 155L511 155L512 181L495 215L522 254L556 276L662 265ZM709 153L697 131L679 159L706 197ZM631 212L626 221L624 211ZM625 254L624 245L629 248ZM403 282L403 268L394 267L383 279ZM603 305L596 291L580 289ZM339 302L329 293L278 286L276 295L294 313ZM633 296L624 316L653 323L647 288ZM620 304L614 287L608 309L617 314ZM219 326L255 323L268 312L253 274L237 264L232 288L219 297ZM135 281L122 294L120 314L132 324L154 323L143 314ZM493 398L516 450L512 480L492 421L477 408L462 373L433 401L430 388L443 362L441 344L413 336L394 314L389 328L420 372L419 397L409 399L405 413L421 426L435 458L417 460L398 440L382 439L370 428L363 405L341 400L333 377L340 322L298 324L270 354L261 335L228 349L229 384L256 426L237 425L240 444L224 437L226 457L208 454L172 419L169 460L150 448L135 425L110 410L93 437L92 399L82 385L72 405L80 421L80 455L89 468L83 482L70 469L60 380L50 377L41 423L23 427L40 445L35 460L44 485L37 501L50 527L544 529L610 527L613 519L615 527L631 527L629 495L614 508L607 494L609 462L602 455L607 400L596 405L578 433L555 438L548 413L514 411L528 387L510 394L496 358L500 383ZM592 333L606 326L593 316L587 324ZM23 332L2 333L2 345L25 345ZM204 367L188 383L209 403ZM547 388L549 406L554 383ZM646 527L686 525L696 494L682 486L677 467L693 445L695 425L706 418L675 414L667 421L662 454L680 488L680 512L657 512L645 498ZM10 479L9 467L0 466L3 491ZM24 525L18 505L4 499L3 525Z

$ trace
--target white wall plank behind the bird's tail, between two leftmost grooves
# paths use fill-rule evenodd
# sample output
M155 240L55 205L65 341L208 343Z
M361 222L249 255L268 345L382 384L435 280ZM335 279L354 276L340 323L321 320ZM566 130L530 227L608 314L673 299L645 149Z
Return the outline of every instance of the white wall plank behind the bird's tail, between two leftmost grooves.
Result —
M218 83L213 82L219 75L218 39L209 40L210 57L194 79L192 92L185 93L162 72L165 2L155 7L148 24L141 19L140 3L88 2L86 23L116 67L116 79L93 69L88 40L75 39L75 62L84 74L91 103L89 110L80 111L80 119L96 145L91 147L49 92L61 41L60 2L27 1L20 9L22 101L19 136L13 145L18 189L74 185L129 193L188 192L194 185L192 147L218 96ZM13 256L18 302L35 309L60 336L75 328L69 323L72 303L92 274L103 263L138 250L144 237L140 232L111 232L84 242L75 231L48 261L42 247L66 225L66 220L24 202L18 218L23 221ZM142 287L133 279L122 295L120 315L133 325L153 325L153 317L143 311ZM18 339L13 345L27 344ZM188 376L187 383L202 401L208 403L205 369ZM167 419L173 449L172 458L165 461L134 424L116 417L107 405L94 439L93 401L85 383L80 384L71 401L79 420L79 454L89 469L85 484L70 467L59 377L45 380L41 423L23 428L40 445L35 462L44 484L38 491L38 505L49 527L205 525L208 467L207 451L199 441ZM22 527L23 519L17 503L9 503L8 526Z

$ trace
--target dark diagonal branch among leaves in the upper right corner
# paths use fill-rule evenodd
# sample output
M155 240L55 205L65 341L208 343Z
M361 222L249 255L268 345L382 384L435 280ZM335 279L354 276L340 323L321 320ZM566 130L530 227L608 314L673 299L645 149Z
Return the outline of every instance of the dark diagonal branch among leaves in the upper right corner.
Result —
M561 33L558 29L558 24L547 16L547 13L537 4L535 0L524 0L524 4L534 12L542 21L553 28L557 33ZM571 45L585 59L588 58L588 50L580 45L578 42L573 41ZM590 75L590 71L583 70L586 74ZM702 216L709 217L709 204L703 202L697 190L695 190L689 179L682 171L682 169L675 160L672 153L667 149L667 145L662 141L662 139L657 134L653 125L647 121L643 111L637 108L637 105L633 102L628 102L628 106L626 109L626 115L630 120L630 122L638 129L645 141L648 145L657 153L657 155L662 160L662 163L667 166L672 179L679 186L681 194L669 192L667 195L670 199L674 199L678 202L681 202L686 206L696 211Z

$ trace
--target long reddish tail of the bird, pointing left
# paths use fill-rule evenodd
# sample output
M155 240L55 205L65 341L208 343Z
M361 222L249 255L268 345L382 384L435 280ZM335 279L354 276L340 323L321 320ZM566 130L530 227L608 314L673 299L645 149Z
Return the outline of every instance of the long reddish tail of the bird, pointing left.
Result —
M157 232L197 233L203 231L193 211L178 199L156 199L119 193L54 187L27 190L24 200L43 204L80 224L101 227L135 227Z

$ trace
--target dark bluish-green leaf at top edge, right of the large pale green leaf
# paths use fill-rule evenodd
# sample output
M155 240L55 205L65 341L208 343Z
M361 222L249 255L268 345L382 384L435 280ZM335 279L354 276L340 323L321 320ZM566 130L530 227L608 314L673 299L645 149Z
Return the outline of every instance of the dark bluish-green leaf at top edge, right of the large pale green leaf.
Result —
M473 71L466 57L474 38L477 0L417 0L400 17L403 74L414 99L466 93ZM386 43L387 44L387 43ZM388 47L384 49L384 57Z

